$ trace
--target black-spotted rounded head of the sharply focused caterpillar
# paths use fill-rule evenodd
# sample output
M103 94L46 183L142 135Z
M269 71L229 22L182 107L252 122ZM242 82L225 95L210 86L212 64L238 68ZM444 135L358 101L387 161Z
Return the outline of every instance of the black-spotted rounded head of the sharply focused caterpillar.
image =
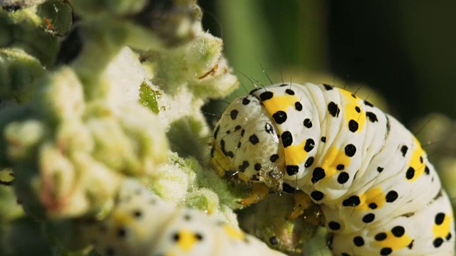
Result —
M257 97L238 98L227 107L214 130L211 164L220 176L281 191L284 149L274 120Z

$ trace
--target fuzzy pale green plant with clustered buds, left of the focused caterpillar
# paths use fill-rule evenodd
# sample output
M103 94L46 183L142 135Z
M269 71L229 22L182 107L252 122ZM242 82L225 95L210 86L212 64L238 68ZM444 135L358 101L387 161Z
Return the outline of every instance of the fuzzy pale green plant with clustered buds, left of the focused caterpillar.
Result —
M201 107L239 82L195 1L0 3L1 255L167 252L162 222L188 208L276 253L238 228L248 188L209 166Z

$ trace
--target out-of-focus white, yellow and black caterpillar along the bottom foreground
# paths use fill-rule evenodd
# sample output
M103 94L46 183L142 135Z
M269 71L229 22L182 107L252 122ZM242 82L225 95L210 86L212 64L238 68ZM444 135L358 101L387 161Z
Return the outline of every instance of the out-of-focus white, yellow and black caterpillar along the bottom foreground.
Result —
M163 200L133 179L124 182L107 218L82 220L78 227L83 238L107 256L283 256L214 216Z

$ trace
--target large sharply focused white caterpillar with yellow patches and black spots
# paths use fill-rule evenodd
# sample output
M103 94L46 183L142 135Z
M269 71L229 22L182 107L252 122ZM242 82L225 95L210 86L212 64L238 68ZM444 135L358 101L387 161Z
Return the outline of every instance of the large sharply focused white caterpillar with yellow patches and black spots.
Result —
M318 204L333 255L454 255L450 200L420 142L351 92L257 88L227 107L211 144L219 175L254 183L243 203L271 190L296 194L292 215Z

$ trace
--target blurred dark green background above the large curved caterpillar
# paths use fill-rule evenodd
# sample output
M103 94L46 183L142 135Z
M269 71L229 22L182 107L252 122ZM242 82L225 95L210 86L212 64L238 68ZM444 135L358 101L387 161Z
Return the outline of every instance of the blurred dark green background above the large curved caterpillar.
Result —
M274 82L368 85L406 125L431 112L456 117L456 1L198 2L232 67L266 85L260 64Z

